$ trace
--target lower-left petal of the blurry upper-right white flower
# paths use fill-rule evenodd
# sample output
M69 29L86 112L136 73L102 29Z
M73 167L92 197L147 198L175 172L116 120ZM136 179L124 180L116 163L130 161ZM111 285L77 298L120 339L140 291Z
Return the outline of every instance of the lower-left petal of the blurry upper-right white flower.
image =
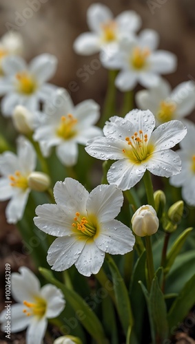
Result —
M121 92L130 91L136 86L137 80L136 72L124 70L116 76L115 85Z

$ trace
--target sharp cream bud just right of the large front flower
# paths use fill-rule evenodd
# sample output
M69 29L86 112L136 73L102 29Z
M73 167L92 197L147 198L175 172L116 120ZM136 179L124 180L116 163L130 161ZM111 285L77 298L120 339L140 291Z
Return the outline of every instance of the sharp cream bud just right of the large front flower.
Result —
M138 208L132 217L132 230L139 237L156 233L158 226L156 211L148 204Z

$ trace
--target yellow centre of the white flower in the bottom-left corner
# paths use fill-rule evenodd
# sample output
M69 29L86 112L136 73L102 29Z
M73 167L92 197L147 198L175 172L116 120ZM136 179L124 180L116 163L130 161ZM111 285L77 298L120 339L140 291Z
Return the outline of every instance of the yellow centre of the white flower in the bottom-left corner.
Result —
M35 302L28 302L23 301L23 304L28 308L24 309L23 313L25 313L27 316L30 315L37 315L37 316L43 316L45 314L47 303L44 299L41 299L41 297L34 297Z

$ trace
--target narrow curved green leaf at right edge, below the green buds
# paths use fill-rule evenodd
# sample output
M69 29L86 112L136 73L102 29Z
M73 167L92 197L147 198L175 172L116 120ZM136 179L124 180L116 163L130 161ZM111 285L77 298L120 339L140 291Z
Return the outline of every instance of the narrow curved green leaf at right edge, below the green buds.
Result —
M185 240L187 239L187 236L189 233L192 232L192 227L187 228L181 233L181 235L178 236L178 238L174 241L174 244L172 244L172 248L167 254L167 259L165 263L165 275L170 271L170 268L174 264L174 261L180 252L181 248L183 247L183 244L185 243Z

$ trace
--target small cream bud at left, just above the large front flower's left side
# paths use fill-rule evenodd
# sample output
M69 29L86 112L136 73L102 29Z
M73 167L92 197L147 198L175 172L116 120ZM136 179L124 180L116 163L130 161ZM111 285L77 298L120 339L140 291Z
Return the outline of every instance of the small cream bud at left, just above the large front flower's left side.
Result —
M50 178L43 172L31 172L28 176L28 186L34 191L46 191L50 187Z

